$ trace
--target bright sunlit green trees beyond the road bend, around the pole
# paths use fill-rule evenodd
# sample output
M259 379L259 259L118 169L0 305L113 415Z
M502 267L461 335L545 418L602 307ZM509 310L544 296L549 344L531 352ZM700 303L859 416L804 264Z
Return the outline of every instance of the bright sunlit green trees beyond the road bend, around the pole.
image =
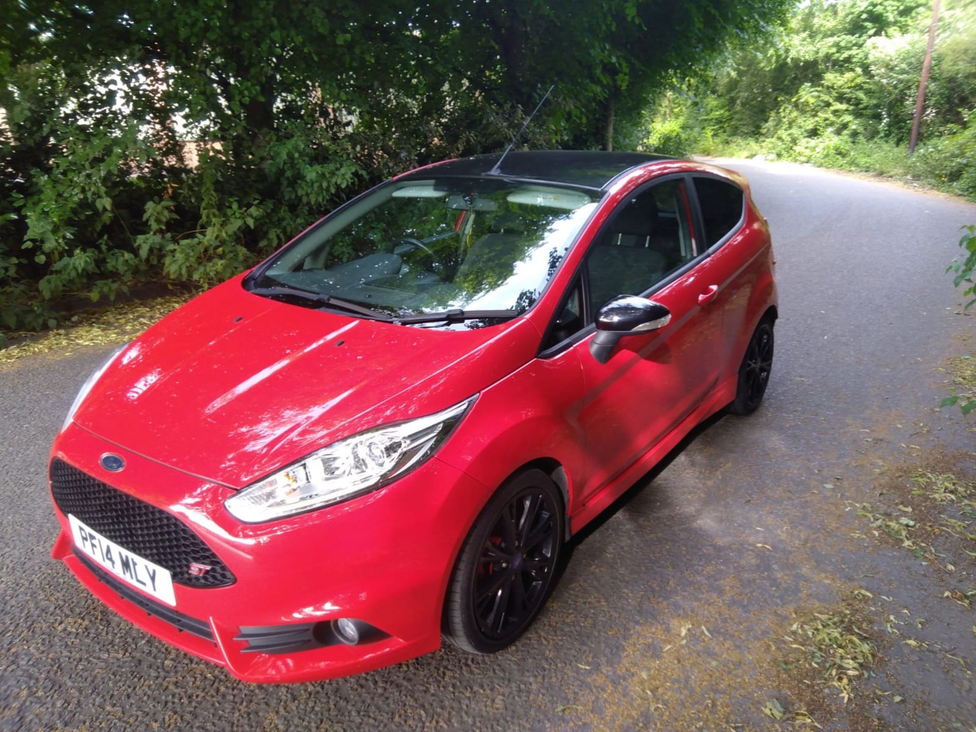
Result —
M921 145L907 152L928 0L809 0L645 112L644 145L771 153L976 197L976 2L945 0Z

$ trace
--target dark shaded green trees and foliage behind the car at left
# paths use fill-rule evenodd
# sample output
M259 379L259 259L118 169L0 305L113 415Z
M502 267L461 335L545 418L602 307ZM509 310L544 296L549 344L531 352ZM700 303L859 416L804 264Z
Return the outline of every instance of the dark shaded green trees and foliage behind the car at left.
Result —
M351 193L525 142L611 146L784 0L0 0L0 319L207 285ZM616 131L616 134L615 134Z

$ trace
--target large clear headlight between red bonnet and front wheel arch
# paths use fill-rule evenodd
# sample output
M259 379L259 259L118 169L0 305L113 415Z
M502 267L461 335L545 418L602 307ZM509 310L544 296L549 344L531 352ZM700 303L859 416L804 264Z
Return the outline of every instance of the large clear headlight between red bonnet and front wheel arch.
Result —
M471 397L443 412L368 429L312 453L224 502L248 523L331 506L417 468L464 417Z

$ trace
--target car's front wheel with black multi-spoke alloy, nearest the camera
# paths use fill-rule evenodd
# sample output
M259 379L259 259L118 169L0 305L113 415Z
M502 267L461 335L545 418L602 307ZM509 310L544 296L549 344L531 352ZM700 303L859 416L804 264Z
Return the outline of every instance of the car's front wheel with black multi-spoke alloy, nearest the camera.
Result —
M494 653L528 629L552 590L563 516L559 488L542 470L515 475L492 496L451 575L444 606L448 641L468 653Z

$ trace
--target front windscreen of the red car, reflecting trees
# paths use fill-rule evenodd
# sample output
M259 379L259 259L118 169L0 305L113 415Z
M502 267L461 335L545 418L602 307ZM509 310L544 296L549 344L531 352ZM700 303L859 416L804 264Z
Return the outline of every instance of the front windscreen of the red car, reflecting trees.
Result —
M264 270L285 286L394 317L460 308L524 312L596 199L484 178L384 185L308 231Z

